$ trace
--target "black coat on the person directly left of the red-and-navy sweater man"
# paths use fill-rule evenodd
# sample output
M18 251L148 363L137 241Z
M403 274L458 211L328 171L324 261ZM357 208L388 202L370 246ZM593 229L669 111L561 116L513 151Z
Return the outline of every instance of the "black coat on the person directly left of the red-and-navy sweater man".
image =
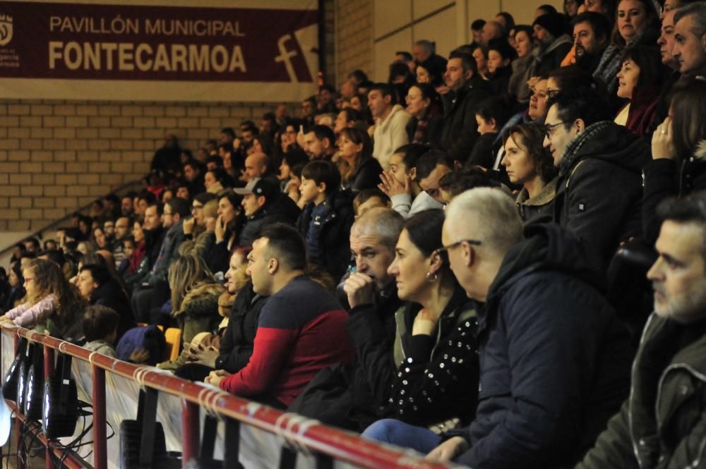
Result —
M237 373L248 364L253 354L260 312L267 300L253 291L252 282L240 289L220 342L216 370Z

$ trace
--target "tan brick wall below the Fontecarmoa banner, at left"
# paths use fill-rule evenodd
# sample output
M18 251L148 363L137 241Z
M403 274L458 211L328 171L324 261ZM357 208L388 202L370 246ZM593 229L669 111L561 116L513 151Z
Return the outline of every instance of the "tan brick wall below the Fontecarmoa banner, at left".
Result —
M149 169L174 133L196 150L274 104L0 100L0 231L35 231Z

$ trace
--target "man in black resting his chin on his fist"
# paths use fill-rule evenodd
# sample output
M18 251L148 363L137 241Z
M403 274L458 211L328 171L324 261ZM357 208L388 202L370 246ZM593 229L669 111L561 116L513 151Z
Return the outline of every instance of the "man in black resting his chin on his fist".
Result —
M350 246L356 269L345 281L351 307L347 329L358 360L326 368L289 406L290 412L348 430L364 430L387 405L397 372L393 355L397 298L388 267L404 219L394 210L370 209L353 224Z

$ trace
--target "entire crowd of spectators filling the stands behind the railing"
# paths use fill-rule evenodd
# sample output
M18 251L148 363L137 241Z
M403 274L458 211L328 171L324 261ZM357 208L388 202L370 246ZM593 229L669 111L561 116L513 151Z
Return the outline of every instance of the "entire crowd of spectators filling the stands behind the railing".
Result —
M706 465L706 2L471 29L167 136L0 320L472 468Z

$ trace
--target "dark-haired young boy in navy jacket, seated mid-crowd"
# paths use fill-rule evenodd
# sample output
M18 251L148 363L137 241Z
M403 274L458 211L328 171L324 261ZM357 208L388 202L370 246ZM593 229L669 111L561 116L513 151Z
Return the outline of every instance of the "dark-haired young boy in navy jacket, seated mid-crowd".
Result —
M306 205L297 230L306 240L309 262L320 265L335 279L348 267L348 238L354 220L353 195L339 190L340 184L340 173L331 162L316 160L301 170L299 191Z

